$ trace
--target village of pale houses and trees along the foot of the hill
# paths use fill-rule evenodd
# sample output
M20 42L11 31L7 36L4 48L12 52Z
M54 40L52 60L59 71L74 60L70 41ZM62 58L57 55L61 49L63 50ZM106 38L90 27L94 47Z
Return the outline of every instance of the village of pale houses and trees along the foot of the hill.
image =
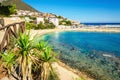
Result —
M57 16L50 13L32 12L27 10L17 10L16 14L12 14L11 17L3 17L0 19L1 25L12 24L15 22L26 21L33 25L51 23L55 28L69 29L82 27L79 21L69 20L62 16ZM3 20L3 21L2 21Z

